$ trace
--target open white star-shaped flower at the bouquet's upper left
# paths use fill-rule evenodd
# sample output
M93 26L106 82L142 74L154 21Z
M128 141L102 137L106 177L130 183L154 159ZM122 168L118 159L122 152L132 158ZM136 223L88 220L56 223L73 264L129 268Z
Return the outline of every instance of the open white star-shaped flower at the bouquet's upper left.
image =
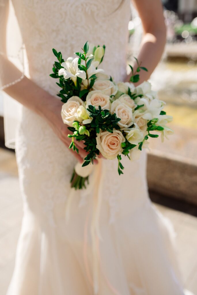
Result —
M69 57L66 62L61 63L61 66L63 68L61 68L58 71L58 75L59 76L64 76L64 79L71 79L76 86L77 83L77 77L81 78L81 79L86 79L86 72L85 71L81 71L78 68L78 57L73 58L73 57Z

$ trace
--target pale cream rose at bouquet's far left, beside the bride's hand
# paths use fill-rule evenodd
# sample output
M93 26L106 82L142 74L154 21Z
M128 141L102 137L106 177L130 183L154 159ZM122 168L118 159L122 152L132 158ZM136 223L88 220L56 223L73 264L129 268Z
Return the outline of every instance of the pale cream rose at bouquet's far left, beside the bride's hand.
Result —
M78 120L77 110L79 106L84 106L84 102L78 96L72 96L68 101L63 104L61 110L61 116L64 124L72 127L73 121L77 120L82 122L83 120Z

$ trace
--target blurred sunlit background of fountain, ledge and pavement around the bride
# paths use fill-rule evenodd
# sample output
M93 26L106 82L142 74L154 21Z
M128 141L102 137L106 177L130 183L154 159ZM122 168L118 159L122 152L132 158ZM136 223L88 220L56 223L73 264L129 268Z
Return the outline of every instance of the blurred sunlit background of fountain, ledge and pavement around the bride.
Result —
M163 0L167 43L151 76L153 90L174 117L175 134L161 144L152 139L147 177L150 198L172 222L185 286L197 294L197 0ZM137 56L141 20L132 7L128 25L128 62ZM5 294L14 267L22 219L17 165L4 146L0 95L0 293Z

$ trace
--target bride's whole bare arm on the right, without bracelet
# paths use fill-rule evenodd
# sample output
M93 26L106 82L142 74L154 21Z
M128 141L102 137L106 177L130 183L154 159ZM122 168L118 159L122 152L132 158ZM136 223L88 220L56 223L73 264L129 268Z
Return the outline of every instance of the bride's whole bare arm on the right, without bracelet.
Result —
M140 80L135 85L139 85L147 80L158 62L160 61L166 41L166 27L163 16L163 9L160 0L133 0L135 7L142 20L143 37L138 55L139 62L148 72L140 72ZM137 63L134 65L134 71ZM127 77L129 81L130 76Z

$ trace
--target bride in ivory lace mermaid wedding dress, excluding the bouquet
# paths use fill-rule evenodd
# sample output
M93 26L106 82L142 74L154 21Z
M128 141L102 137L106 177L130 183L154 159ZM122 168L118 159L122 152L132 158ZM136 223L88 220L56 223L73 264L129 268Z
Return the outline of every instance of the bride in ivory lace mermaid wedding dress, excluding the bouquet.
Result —
M0 4L3 53L9 1ZM142 73L142 83L162 55L165 24L159 0L134 4L144 29L138 60L149 70ZM79 155L68 149L58 86L49 77L52 48L70 56L88 40L106 45L106 73L115 81L129 81L130 0L12 0L12 5L29 77L0 55L2 88L23 105L16 157L24 216L7 295L183 295L170 232L148 196L146 153L135 162L123 159L121 177L116 160L99 159L94 170L101 169L100 181L92 176L86 190L73 192L73 167L86 154L83 145ZM95 186L102 196L102 240L92 234Z

